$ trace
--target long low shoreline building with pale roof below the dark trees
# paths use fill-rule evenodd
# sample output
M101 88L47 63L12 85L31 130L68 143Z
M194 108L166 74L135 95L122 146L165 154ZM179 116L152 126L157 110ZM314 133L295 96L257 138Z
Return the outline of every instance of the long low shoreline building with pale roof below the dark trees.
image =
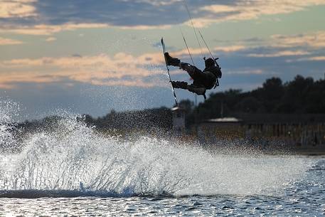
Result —
M325 115L321 114L235 114L203 120L198 139L213 143L224 139L285 144L290 147L325 147Z

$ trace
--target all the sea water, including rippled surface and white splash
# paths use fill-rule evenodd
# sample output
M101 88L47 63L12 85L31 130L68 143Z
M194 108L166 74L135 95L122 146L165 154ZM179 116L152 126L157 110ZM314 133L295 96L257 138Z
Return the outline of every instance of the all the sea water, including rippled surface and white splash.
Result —
M321 157L122 139L67 114L18 140L6 124L12 107L0 114L0 216L325 214Z

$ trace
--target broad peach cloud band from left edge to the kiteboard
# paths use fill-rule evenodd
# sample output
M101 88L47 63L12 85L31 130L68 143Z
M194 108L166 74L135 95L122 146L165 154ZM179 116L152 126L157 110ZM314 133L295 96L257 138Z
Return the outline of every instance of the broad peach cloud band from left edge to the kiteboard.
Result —
M163 58L160 53L145 54L138 57L126 53L117 53L112 58L101 54L4 60L0 62L0 70L3 72L0 85L10 87L11 83L50 83L69 78L93 85L152 87L159 85L159 83L145 83L144 78L162 75L164 72L152 65L161 63L163 63Z

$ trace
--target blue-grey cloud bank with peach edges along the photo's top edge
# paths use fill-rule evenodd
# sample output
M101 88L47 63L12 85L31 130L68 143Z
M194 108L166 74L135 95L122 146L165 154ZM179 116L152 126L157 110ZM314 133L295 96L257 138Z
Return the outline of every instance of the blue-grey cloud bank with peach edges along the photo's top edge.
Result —
M220 0L218 4L204 0L188 1L196 27L221 21L255 19L262 15L288 14L302 11L308 6L324 4L324 0ZM76 0L4 1L1 3L0 18L3 18L1 26L34 34L36 30L38 34L65 31L67 23L97 23L105 24L99 28L114 26L137 30L170 28L179 23L191 24L182 0L99 0L96 3L83 1L82 4ZM33 31L28 31L28 28L33 28Z

